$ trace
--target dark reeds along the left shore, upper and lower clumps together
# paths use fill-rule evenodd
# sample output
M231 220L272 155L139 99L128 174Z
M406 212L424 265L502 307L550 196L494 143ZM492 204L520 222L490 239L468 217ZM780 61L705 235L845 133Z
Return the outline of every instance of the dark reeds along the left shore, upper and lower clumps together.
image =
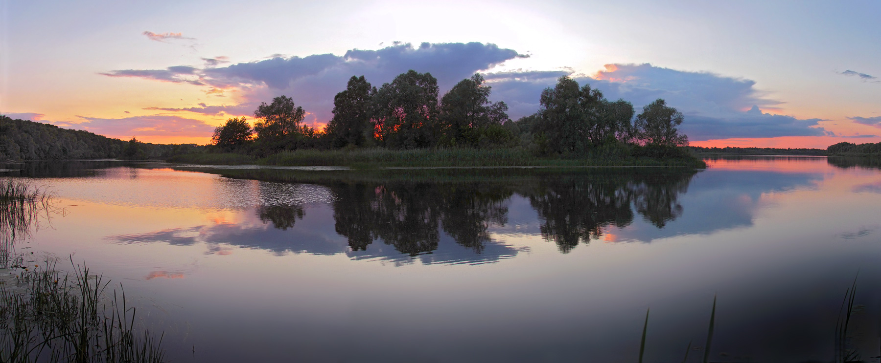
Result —
M51 202L45 188L21 179L0 182L0 361L164 361L162 335L136 324L137 310L124 293L108 291L108 281L85 267L63 273L51 259L14 252L41 219L59 211Z

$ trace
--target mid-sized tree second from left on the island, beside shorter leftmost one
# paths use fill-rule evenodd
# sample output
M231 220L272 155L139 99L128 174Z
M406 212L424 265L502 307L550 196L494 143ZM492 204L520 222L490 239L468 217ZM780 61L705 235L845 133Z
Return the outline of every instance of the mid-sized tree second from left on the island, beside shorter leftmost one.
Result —
M279 139L300 132L300 122L306 113L287 96L272 98L272 103L261 102L254 112L257 121L254 131L260 139Z

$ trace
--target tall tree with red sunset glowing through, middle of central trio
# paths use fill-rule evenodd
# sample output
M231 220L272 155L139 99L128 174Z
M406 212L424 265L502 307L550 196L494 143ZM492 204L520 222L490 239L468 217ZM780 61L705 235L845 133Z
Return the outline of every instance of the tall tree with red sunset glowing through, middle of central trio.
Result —
M438 81L413 69L384 83L374 95L374 138L396 149L431 146L438 117Z

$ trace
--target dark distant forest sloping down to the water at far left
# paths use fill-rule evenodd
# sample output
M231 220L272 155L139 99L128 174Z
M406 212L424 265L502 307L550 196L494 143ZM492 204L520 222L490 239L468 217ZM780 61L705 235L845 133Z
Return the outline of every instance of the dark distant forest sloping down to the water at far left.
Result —
M168 157L204 147L123 142L88 131L70 130L0 115L0 161Z

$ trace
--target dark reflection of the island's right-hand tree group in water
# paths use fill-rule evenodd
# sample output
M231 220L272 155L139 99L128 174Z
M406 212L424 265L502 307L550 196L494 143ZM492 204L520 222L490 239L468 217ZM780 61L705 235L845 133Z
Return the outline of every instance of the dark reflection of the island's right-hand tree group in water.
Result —
M524 194L542 221L542 236L567 253L578 243L603 236L607 226L624 227L637 213L657 228L682 214L678 193L693 173L603 173L544 178Z

